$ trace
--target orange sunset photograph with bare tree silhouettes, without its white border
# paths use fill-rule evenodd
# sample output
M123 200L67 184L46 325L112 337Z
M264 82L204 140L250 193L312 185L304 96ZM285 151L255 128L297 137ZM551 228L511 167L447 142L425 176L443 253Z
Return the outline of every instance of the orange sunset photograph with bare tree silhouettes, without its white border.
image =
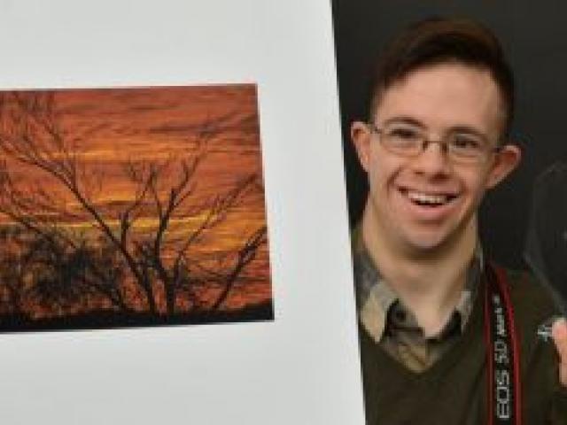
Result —
M0 332L274 318L254 84L0 91Z

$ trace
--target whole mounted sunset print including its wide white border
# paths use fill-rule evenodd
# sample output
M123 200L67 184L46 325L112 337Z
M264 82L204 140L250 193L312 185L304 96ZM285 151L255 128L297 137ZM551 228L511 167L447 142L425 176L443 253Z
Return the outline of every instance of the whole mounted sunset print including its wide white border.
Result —
M219 203L229 208L191 245L195 257L180 260L218 282L201 298L178 287L175 312L190 307L191 297L203 307L221 303L216 313L268 301L260 317L247 318L252 321L146 326L172 306L162 290L154 299L158 314L140 326L57 319L43 331L4 332L4 421L363 423L330 4L6 0L0 20L0 88L12 99L4 104L17 107L4 110L4 135L20 136L18 143L4 138L3 196L19 201L3 201L1 220L6 214L30 219L57 237L81 236L84 244L82 257L66 245L55 262L46 262L43 272L58 271L45 273L46 280L35 279L42 267L37 274L26 270L24 282L49 289L44 313L71 319L77 305L87 305L83 315L101 307L120 312L112 307L120 297L144 313L151 297L139 290L136 273L144 282L147 270L155 274L153 288L164 287L159 260L146 254L155 254L159 240L159 205L163 214L169 200L177 205L182 198L186 204L179 204L167 234L174 256L190 240L188 228L178 225L206 223L217 198L221 216ZM42 121L47 133L35 128ZM120 138L110 142L113 135ZM185 180L195 183L186 198L179 190ZM72 190L63 190L66 184ZM93 215L98 211L104 220ZM24 233L12 232L20 245L4 256L29 251L37 234ZM130 244L120 243L122 233ZM39 245L37 254L55 254ZM118 264L101 246L121 251ZM238 272L238 252L241 260L251 257L243 249L255 256ZM138 272L123 264L135 254ZM105 262L95 261L100 256ZM22 259L14 262L23 266ZM64 267L71 259L81 259L81 267ZM175 274L172 259L163 264L167 274ZM224 278L215 272L221 269ZM87 283L95 282L91 274L118 277L120 270L124 281L108 280L109 288L98 285L89 297L51 285L65 282L58 274L78 274ZM231 272L238 278L223 297ZM180 267L178 275L190 274ZM115 282L124 284L121 290ZM126 297L127 282L141 298ZM31 305L21 305L23 312ZM0 323L4 330L15 330L12 325Z

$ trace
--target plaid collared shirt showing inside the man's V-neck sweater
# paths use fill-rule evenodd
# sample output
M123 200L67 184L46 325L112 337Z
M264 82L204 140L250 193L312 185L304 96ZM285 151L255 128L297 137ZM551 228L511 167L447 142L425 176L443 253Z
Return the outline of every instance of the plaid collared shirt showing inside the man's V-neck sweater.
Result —
M467 324L483 268L480 246L475 251L465 288L445 327L425 337L416 316L384 282L362 241L361 226L353 231L356 302L362 327L374 341L408 369L422 372L454 344Z

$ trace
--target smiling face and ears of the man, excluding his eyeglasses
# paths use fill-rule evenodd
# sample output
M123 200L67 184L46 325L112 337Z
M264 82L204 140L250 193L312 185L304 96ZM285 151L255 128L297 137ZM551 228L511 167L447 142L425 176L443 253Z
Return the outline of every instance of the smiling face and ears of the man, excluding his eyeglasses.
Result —
M455 132L480 136L495 147L502 128L501 97L488 71L457 63L427 66L384 90L374 124L410 126L431 141ZM366 123L354 122L351 134L369 178L364 231L371 229L370 239L397 251L475 243L476 213L485 190L501 182L520 158L516 146L505 145L478 164L458 164L439 143L408 158L384 149L380 135Z

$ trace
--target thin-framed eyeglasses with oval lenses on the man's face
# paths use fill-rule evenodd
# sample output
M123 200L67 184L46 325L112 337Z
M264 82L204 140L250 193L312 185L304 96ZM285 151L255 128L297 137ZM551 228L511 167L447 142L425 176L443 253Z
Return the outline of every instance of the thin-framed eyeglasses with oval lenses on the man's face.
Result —
M479 164L490 154L501 150L500 146L493 147L484 137L476 134L453 132L440 140L430 140L422 128L409 124L396 123L377 128L374 123L369 123L369 128L380 136L379 141L384 149L402 157L417 157L431 143L438 143L450 161L460 164Z

